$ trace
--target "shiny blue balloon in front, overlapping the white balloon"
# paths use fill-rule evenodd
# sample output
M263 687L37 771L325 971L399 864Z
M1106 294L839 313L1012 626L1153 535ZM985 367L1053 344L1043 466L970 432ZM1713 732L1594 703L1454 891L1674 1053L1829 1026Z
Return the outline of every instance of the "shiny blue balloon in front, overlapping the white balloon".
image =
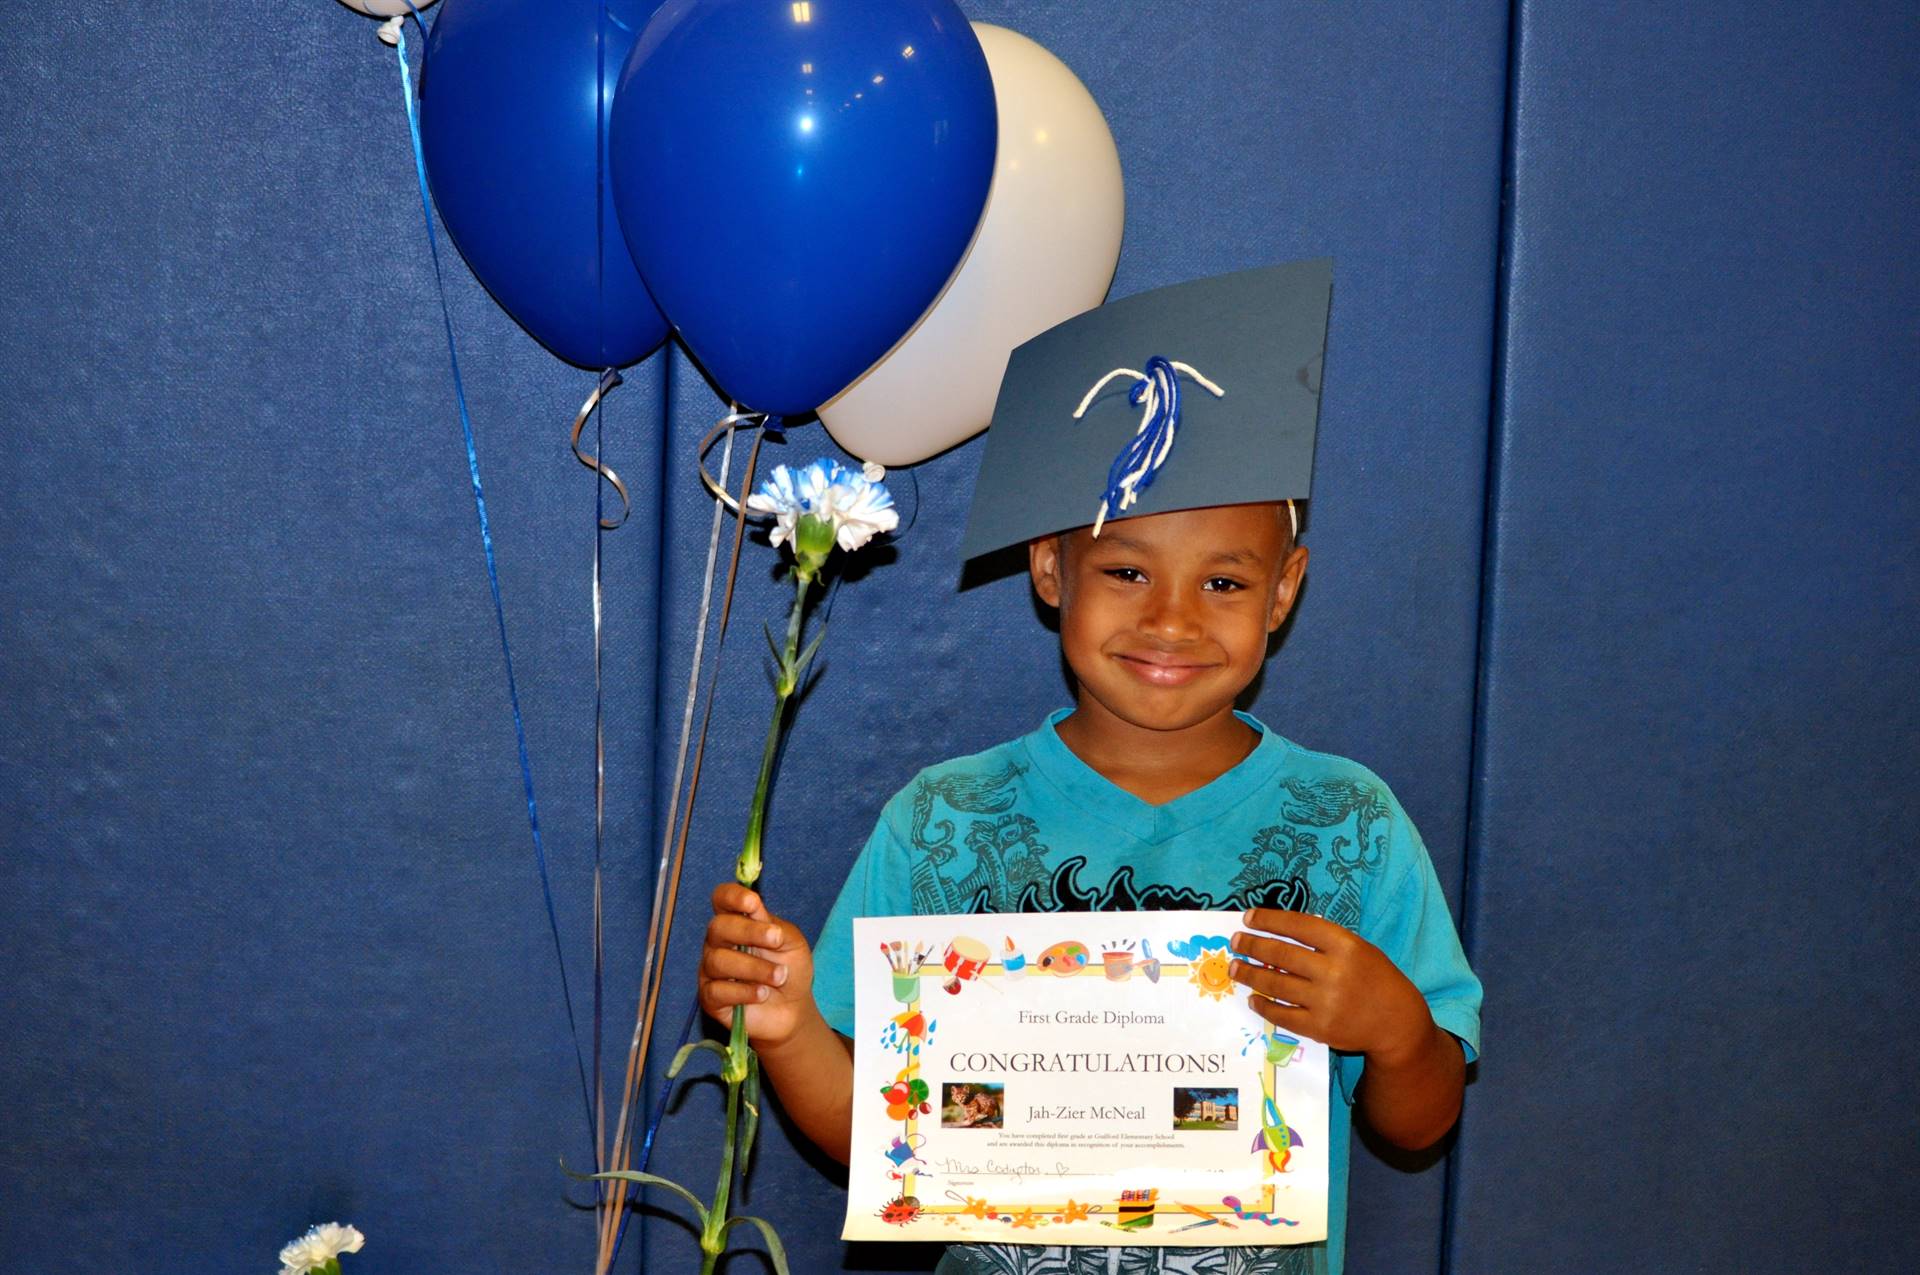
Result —
M939 296L996 140L952 0L668 0L614 94L614 204L693 357L793 417Z

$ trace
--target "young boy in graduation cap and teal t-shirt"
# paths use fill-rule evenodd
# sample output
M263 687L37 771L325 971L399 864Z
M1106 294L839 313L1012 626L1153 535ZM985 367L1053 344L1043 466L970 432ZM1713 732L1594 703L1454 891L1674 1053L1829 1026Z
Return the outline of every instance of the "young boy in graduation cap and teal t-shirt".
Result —
M931 766L887 803L818 949L753 891L714 891L701 1002L722 1020L749 1006L781 1104L841 1162L854 916L1244 908L1233 949L1250 1004L1336 1050L1327 1242L1236 1248L1233 1263L1196 1248L1123 1262L956 1246L943 1275L1338 1275L1348 1106L1407 1148L1459 1114L1480 983L1419 833L1369 770L1235 710L1306 576L1294 499L1311 474L1329 288L1325 261L1246 271L1021 346L966 547L1027 543L1033 589L1060 614L1071 712ZM1089 390L1154 349L1181 363L1121 367L1129 396ZM1068 419L1081 394L1085 419Z

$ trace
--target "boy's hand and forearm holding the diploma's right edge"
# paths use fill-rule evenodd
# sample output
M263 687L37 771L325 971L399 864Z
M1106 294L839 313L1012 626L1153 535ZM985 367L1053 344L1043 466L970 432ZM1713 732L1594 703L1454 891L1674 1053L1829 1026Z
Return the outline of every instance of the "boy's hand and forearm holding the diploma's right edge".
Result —
M1421 989L1386 952L1325 918L1250 908L1246 924L1265 931L1233 935L1235 954L1260 962L1233 964L1233 977L1256 993L1254 1012L1329 1048L1365 1054L1367 1123L1411 1150L1438 1143L1459 1118L1467 1062Z

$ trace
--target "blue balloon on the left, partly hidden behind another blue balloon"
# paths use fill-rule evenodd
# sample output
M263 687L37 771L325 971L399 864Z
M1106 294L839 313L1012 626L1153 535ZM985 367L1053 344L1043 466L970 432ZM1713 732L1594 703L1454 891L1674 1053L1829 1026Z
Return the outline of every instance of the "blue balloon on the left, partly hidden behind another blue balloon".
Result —
M614 79L659 0L447 0L420 148L467 265L541 346L626 367L666 338L607 180Z

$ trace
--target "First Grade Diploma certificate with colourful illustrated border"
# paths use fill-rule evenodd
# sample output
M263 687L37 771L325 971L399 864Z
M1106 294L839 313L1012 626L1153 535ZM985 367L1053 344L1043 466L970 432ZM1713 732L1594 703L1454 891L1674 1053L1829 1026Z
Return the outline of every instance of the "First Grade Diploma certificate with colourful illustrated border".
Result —
M845 1239L1327 1239L1327 1046L1227 977L1238 912L854 922Z

